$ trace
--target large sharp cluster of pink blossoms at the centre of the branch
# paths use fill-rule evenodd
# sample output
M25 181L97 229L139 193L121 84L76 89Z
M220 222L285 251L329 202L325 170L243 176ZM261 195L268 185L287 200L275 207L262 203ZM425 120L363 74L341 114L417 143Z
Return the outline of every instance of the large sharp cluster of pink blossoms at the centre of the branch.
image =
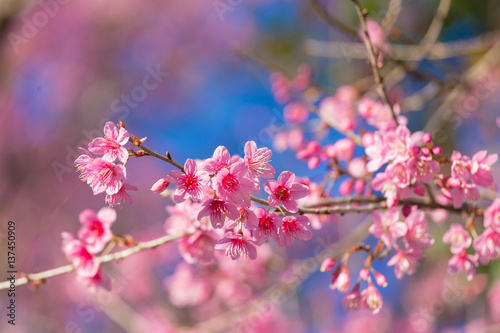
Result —
M275 176L269 164L272 152L268 148L258 149L253 141L245 144L244 152L244 157L231 156L225 147L219 146L211 158L188 159L183 171L168 173L168 180L177 185L173 193L177 205L167 207L171 216L166 229L191 233L180 245L187 262L211 260L214 248L224 250L233 260L253 260L257 257L256 246L270 238L289 247L294 239L312 237L309 219L294 215L298 212L297 200L308 195L308 187L295 181L292 172L284 171L277 180L267 180L263 187L269 194L270 207L288 214L280 219L274 212L254 207L251 195L259 192L261 178Z

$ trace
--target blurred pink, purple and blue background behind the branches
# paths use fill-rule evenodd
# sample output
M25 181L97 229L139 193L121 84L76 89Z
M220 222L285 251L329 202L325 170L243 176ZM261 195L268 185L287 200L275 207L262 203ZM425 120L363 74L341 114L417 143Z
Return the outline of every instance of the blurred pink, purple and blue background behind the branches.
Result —
M100 136L106 121L121 119L131 134L148 137L148 147L160 153L168 150L183 163L186 158L207 158L219 145L237 154L243 153L247 140L259 147L273 146L273 134L287 126L283 105L275 101L269 83L277 68L295 75L299 65L309 64L314 82L326 92L354 82L366 86L362 79L367 77L373 82L366 60L350 57L355 50L339 55L338 47L318 44L359 42L359 21L351 2L319 3L354 34L321 19L312 2L0 0L0 274L5 271L8 220L17 225L20 272L67 264L61 232L76 233L80 211L104 206L103 196L93 196L78 179L73 161L80 154L78 147ZM363 1L377 21L386 17L390 3L399 2ZM391 42L418 44L438 5L430 0L403 1L390 30ZM462 87L461 97L470 98L454 100L440 118L438 134L447 153L499 150L496 61L488 63L484 75L463 79L496 45L499 15L499 1L453 1L439 41L467 39L471 48L417 63L416 74L406 75L391 89L391 95L404 99L435 78L439 89L434 95L403 106L403 111L412 111L407 114L410 129L421 130L447 94ZM330 133L327 139L339 137ZM314 178L324 171L309 170L290 150L275 152L272 163L277 173L292 170ZM149 188L171 167L152 158L133 159L127 166L128 179L139 191L132 193L134 207L118 211L113 230L138 240L158 237L165 232L168 202ZM334 241L360 219L344 217L315 235L330 235ZM344 312L343 295L328 289L329 274L313 273L272 303L252 329L480 332L500 322L500 306L492 307L500 293L495 285L498 265L482 269L471 283L448 276L448 248L439 241L446 229L433 228L437 244L416 276L396 280L392 269L379 263L389 282L381 291L381 313ZM279 266L311 256L318 245L299 243L289 251L266 251L277 257L272 260ZM220 315L224 307L209 301L205 307L172 301L165 281L178 261L172 244L110 264L105 272L113 277L114 296L102 294L101 299L89 296L74 274L52 278L38 289L19 287L15 327L6 323L8 298L1 291L0 332L177 332L178 327L195 327ZM262 290L272 282L263 279ZM247 301L234 300L234 306ZM418 324L408 325L410 321Z

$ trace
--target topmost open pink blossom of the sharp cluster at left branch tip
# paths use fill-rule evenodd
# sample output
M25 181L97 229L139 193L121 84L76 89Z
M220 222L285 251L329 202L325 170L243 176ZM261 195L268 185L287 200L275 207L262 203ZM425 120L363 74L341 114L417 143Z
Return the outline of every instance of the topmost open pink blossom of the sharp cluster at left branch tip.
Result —
M104 125L104 138L95 138L89 144L89 150L94 154L104 155L103 159L114 162L117 158L122 163L128 160L127 148L123 147L129 140L127 130L108 121Z

